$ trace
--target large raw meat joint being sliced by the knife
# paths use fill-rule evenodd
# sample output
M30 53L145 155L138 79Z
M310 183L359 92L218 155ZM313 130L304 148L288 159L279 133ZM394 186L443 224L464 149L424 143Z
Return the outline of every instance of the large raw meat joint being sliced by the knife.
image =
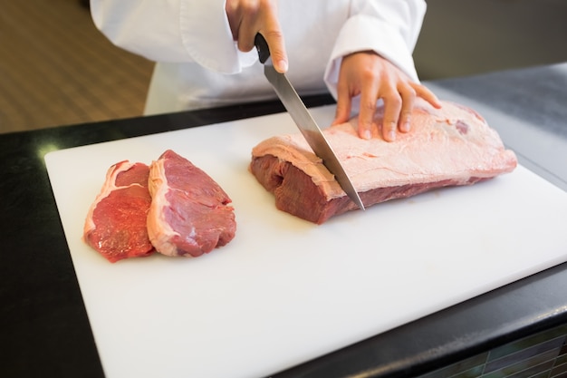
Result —
M407 198L446 186L471 185L514 170L517 160L476 112L443 102L440 110L418 102L412 129L397 140L380 137L383 108L370 141L357 136L357 120L332 126L325 137L341 159L364 205ZM322 224L356 209L302 134L262 141L252 150L250 170L274 192L277 208Z

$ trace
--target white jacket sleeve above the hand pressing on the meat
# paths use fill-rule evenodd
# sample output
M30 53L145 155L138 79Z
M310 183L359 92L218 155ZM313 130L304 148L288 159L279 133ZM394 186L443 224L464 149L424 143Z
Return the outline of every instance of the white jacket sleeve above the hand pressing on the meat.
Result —
M325 70L332 95L336 98L342 57L359 51L379 53L418 82L412 53L426 6L424 0L353 0Z

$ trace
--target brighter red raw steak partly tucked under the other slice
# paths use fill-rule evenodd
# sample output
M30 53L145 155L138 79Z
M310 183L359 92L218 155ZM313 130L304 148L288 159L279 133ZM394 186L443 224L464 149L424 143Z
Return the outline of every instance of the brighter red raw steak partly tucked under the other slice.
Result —
M114 164L89 209L83 239L112 263L154 251L146 228L151 203L148 178L146 164L128 160Z

